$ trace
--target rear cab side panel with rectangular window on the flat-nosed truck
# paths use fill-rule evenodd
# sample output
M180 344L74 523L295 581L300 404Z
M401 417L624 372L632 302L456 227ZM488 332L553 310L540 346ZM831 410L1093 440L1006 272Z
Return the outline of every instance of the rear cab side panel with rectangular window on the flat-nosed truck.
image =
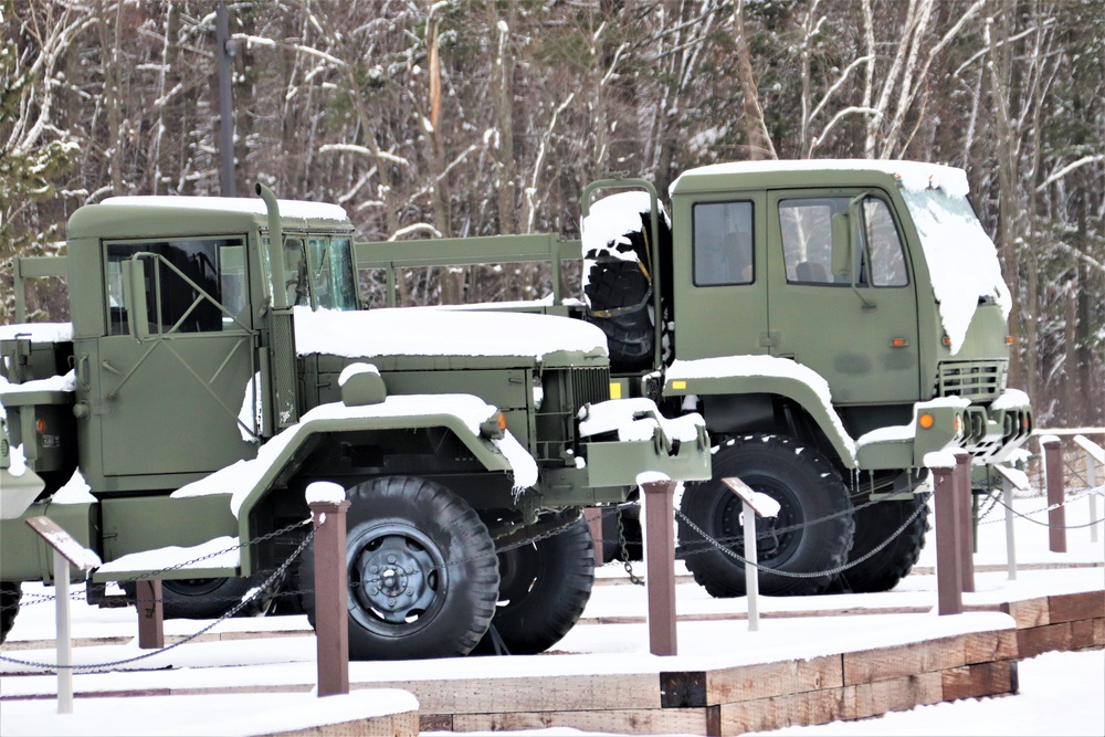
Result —
M682 359L766 354L767 274L759 193L675 203L675 352Z

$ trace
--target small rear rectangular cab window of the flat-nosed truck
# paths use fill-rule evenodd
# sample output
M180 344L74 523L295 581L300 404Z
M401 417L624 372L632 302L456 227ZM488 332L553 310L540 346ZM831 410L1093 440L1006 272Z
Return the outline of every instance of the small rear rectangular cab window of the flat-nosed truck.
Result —
M695 285L751 284L753 203L699 202L693 218Z

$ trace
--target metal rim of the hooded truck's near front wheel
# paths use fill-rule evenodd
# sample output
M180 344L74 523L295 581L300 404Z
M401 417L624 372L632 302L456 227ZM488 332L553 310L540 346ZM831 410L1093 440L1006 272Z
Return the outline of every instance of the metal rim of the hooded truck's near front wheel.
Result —
M348 545L349 613L362 627L390 635L425 627L449 589L444 556L407 525L367 529Z

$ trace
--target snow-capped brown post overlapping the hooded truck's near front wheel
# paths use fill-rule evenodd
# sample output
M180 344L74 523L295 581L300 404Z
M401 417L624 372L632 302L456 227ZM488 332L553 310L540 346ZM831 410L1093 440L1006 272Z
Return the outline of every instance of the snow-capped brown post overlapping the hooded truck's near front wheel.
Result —
M314 486L316 484L308 487L308 495ZM341 489L341 494L345 495L345 489ZM318 649L318 695L348 694L349 612L347 603L348 573L346 570L346 509L349 508L349 502L313 501L309 506L315 523L315 634Z

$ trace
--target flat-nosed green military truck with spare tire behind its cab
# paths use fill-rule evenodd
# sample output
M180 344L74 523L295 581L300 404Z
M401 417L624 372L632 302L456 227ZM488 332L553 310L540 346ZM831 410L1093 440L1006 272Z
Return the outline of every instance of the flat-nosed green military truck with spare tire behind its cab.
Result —
M1028 397L1007 386L1010 295L966 175L723 164L670 193L669 210L645 180L589 185L581 242L546 252L558 274L582 259L571 314L606 333L614 396L706 420L713 478L680 508L687 568L716 597L744 593L740 502L720 482L738 476L781 507L757 520L764 591L894 587L928 529L925 454L965 449L982 487L1032 431ZM393 283L451 255L527 260L533 238L358 244L356 257Z

